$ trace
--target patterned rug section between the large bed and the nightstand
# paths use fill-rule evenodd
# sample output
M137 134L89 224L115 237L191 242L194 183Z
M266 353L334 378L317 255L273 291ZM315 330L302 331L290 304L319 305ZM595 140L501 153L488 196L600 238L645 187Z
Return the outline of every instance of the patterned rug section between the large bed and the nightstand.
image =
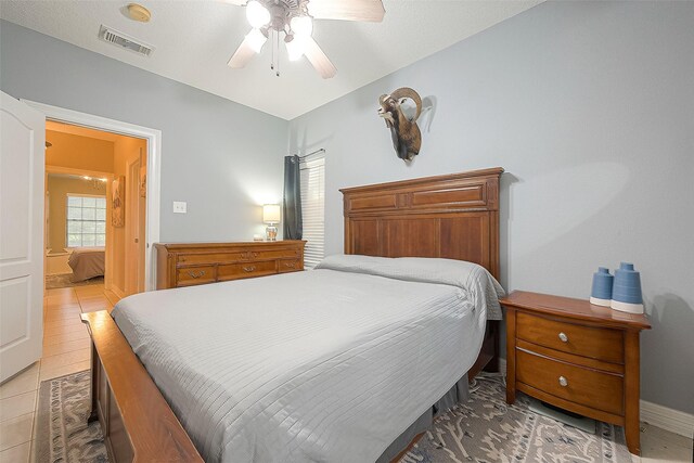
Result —
M595 435L584 433L530 411L524 394L506 404L500 378L477 383L471 399L440 416L401 463L631 463L621 427L597 422Z

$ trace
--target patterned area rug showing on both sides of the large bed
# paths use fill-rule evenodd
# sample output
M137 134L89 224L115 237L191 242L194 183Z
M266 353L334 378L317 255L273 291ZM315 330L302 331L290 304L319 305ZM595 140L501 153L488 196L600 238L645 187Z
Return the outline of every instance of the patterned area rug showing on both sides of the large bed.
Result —
M99 422L87 426L89 374L41 383L39 462L108 461ZM471 399L439 417L400 463L631 463L620 427L597 422L599 433L588 434L531 412L523 394L507 406L499 380L478 384Z

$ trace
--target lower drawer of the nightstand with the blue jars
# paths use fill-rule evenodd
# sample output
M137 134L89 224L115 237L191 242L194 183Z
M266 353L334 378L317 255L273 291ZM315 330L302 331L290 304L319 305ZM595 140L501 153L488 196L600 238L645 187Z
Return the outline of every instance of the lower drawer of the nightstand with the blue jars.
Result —
M619 375L517 349L516 381L575 403L624 414L624 378Z

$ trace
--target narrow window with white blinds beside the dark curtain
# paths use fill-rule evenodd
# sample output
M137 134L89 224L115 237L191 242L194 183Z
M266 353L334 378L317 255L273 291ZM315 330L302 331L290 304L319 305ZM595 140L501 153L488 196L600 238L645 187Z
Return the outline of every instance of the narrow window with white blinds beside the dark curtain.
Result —
M323 153L301 159L301 220L304 223L304 266L312 269L324 255L325 157Z

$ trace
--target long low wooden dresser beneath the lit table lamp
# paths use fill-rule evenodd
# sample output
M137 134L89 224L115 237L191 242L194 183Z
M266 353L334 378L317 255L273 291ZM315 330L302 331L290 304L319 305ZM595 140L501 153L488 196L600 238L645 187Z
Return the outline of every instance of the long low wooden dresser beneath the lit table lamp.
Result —
M156 288L304 270L305 241L157 243Z

